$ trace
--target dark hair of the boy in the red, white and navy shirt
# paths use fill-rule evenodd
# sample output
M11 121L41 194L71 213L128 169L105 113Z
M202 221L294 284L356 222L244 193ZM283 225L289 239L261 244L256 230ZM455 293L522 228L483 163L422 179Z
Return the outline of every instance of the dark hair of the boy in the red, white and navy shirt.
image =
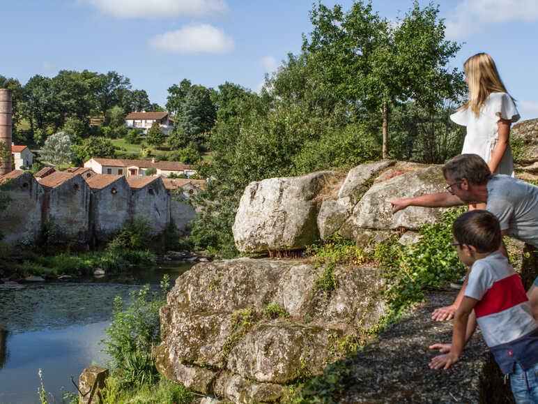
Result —
M491 212L481 210L466 212L456 218L452 234L459 243L473 246L479 253L498 250L502 239L499 220Z

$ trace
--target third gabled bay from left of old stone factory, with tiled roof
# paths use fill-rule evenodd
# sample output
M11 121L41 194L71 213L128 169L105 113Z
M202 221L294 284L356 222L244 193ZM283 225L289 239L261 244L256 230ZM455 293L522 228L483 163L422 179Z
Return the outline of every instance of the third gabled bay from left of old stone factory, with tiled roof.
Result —
M84 179L92 190L90 237L93 241L112 239L129 220L129 184L123 175L94 174Z

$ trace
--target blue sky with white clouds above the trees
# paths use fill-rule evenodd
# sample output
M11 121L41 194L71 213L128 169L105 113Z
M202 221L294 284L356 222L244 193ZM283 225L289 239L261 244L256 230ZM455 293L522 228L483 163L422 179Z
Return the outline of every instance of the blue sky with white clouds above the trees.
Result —
M3 1L0 75L25 84L59 70L116 70L151 102L183 78L216 88L226 81L258 91L266 73L300 52L312 26L312 0L18 0ZM351 0L325 0L348 10ZM373 0L396 20L411 0ZM427 1L420 1L422 5ZM522 119L538 117L537 0L450 0L440 4L447 38L472 54L491 54L518 101Z

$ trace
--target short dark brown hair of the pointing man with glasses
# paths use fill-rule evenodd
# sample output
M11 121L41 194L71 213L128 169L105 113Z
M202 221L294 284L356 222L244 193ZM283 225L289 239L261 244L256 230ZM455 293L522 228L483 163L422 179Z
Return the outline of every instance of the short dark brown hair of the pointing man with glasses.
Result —
M443 165L443 176L454 182L466 178L472 184L486 185L491 179L491 171L484 159L478 154L459 154Z

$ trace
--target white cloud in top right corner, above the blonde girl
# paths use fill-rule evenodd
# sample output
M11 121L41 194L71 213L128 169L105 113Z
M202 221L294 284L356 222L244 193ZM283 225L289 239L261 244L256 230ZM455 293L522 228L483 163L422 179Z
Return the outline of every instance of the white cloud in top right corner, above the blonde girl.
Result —
M463 39L491 23L535 20L538 20L536 0L463 0L445 21L446 36Z

